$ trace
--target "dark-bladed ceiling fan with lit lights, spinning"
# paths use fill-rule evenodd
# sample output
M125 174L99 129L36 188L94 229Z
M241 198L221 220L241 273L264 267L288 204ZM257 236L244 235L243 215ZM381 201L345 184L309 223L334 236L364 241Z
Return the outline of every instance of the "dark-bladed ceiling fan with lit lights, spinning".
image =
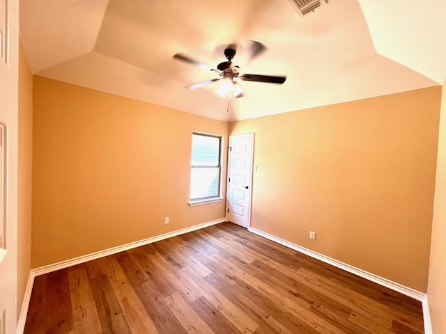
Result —
M265 45L261 44L260 42L256 42L254 40L250 41L249 45L249 60L252 60L261 52L266 50ZM224 61L217 65L217 68L212 67L206 63L203 63L201 61L197 61L194 58L191 58L190 56L186 56L185 54L175 54L174 59L177 59L178 61L185 61L186 63L190 63L192 65L196 65L198 67L203 68L204 70L208 70L210 72L217 73L220 77L215 79L210 79L206 81L200 81L196 82L194 84L189 84L185 86L187 89L196 89L201 88L203 86L212 84L216 81L222 81L222 84L220 85L220 88L215 90L215 93L217 95L220 95L222 97L225 97L226 95L229 95L229 93L232 93L233 97L242 97L243 89L240 87L240 85L237 82L237 79L243 80L243 81L257 81L257 82L268 82L270 84L283 84L286 80L286 77L284 76L272 76L272 75L263 75L263 74L241 74L239 73L240 68L238 65L233 65L232 59L234 56L236 56L237 51L237 45L231 44L226 49L224 49L224 56L226 57L227 61Z

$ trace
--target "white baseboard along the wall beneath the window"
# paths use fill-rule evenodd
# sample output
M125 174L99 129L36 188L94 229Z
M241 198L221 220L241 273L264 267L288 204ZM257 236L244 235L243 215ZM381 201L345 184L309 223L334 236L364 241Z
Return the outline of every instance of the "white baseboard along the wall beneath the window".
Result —
M226 221L226 218L220 218L220 219L216 219L215 221L208 221L207 223L201 223L201 224L198 224L198 225L194 225L194 226L191 226L190 228L183 228L181 230L176 230L176 231L173 231L173 232L160 234L160 235L157 235L155 237L150 237L150 238L147 238L147 239L142 239L142 240L139 240L139 241L130 242L129 244L116 246L116 247L108 248L108 249L105 249L105 250L100 250L100 251L95 252L95 253L91 253L91 254L75 257L74 259L65 260L65 261L62 261L62 262L49 264L49 265L44 266L44 267L32 269L31 273L33 273L34 276L40 276L40 275L43 275L45 273L51 273L52 271L56 271L56 270L59 270L59 269L68 268L68 267L74 266L75 264L81 264L81 263L88 262L88 261L91 261L91 260L99 259L100 257L113 255L113 254L116 254L116 253L119 253L119 252L123 252L125 250L129 250L129 249L132 249L132 248L137 248L139 246L144 246L146 244L151 244L151 243L153 243L155 241L160 241L162 239L176 237L177 235L184 234L184 233L187 233L187 232L192 232L194 230L199 230L201 228L207 228L210 225L223 223L224 221Z

